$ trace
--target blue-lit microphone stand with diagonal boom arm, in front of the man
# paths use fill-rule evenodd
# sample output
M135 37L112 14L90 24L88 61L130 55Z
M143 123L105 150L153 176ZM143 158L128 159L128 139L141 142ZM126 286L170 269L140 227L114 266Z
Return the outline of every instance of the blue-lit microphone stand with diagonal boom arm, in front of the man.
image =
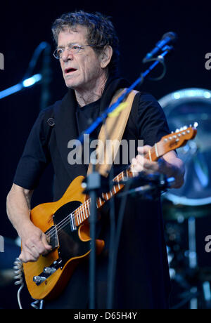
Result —
M139 79L136 79L136 81L134 82L134 84L132 84L132 86L130 86L129 88L126 89L126 91L124 91L124 93L122 95L120 95L120 98L117 99L117 101L115 103L113 103L113 105L111 105L110 107L108 107L102 114L100 117L98 117L96 119L96 121L94 121L93 124L91 124L91 126L89 126L89 128L87 128L86 131L84 131L82 133L81 136L79 136L78 140L80 144L84 143L84 135L90 135L99 124L103 123L106 118L108 117L108 114L110 114L111 112L113 112L113 110L115 110L120 103L122 103L122 101L124 100L124 98L127 97L127 95L139 84L143 84L144 79L148 76L148 74L151 73L152 70L154 70L154 68L159 64L162 63L162 65L164 64L164 58L165 56L170 53L170 51L172 51L173 47L172 46L166 46L165 48L163 48L163 53L161 53L157 59L153 59L153 64L148 67L148 70L146 70L145 72L141 73L141 76L139 77ZM148 62L151 60L148 60ZM164 76L164 74L162 74L162 77ZM159 78L160 79L160 78ZM93 164L93 172L91 174L89 174L89 176L87 176L87 187L86 187L86 192L89 192L89 196L91 197L91 215L89 216L90 220L90 237L91 237L91 252L90 252L90 261L89 261L89 309L95 309L95 305L96 305L96 277L95 277L95 273L96 273L96 199L97 199L97 191L98 189L101 187L101 177L100 174L97 173L95 171L95 162L92 163Z

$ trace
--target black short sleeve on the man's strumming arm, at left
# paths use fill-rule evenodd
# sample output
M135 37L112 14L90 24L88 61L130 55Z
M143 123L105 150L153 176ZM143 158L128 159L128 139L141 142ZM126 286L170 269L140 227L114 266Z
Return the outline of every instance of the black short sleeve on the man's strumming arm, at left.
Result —
M13 182L27 190L34 190L37 187L41 174L51 161L46 142L45 127L49 125L46 122L45 113L45 110L39 113L15 171Z

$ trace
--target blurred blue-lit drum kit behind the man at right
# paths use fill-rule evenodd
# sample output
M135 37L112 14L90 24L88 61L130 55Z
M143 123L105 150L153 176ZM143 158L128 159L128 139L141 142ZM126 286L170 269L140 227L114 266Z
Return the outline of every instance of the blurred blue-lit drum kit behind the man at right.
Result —
M185 88L159 100L171 131L198 123L198 133L177 150L185 183L162 195L172 308L211 308L211 91ZM211 251L211 250L210 250Z

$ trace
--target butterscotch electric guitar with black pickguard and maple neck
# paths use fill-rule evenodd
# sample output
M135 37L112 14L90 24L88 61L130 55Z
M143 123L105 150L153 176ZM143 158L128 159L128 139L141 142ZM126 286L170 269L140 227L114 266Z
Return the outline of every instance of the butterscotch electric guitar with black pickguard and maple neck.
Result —
M175 133L156 143L145 157L155 162L167 152L195 138L196 133L196 128L192 126L177 129ZM117 175L113 179L113 189L98 197L97 208L100 209L124 188L123 178L133 176L132 165ZM77 264L89 256L91 238L88 219L91 199L83 194L83 180L84 176L78 176L57 202L40 204L31 211L32 223L46 234L52 247L47 255L40 256L36 262L23 264L27 289L34 299L51 299L58 296ZM97 254L103 251L104 245L103 240L96 240Z

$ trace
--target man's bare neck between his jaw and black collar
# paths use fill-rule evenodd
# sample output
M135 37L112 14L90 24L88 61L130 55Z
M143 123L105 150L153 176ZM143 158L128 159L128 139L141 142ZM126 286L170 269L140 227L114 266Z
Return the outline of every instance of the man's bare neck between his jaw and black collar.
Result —
M107 77L102 75L102 77L96 81L93 81L92 86L89 84L89 89L87 88L77 88L75 89L75 96L79 107L84 107L84 105L89 105L101 98ZM91 88L91 90L90 90Z

